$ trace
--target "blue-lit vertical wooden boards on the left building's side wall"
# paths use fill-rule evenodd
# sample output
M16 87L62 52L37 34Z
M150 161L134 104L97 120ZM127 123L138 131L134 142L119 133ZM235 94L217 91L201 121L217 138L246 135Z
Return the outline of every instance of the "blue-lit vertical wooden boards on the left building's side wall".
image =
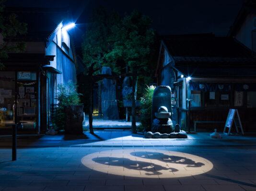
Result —
M57 70L62 74L57 75L57 84L66 84L69 80L76 83L76 67L75 64L64 54L59 48L57 48Z

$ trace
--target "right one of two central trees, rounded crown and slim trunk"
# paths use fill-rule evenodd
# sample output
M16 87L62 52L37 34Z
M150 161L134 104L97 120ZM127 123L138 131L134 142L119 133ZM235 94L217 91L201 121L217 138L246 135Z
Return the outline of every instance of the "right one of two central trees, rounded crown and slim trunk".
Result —
M132 76L132 132L136 133L136 98L138 75L147 70L154 31L150 28L151 19L139 11L126 15L119 25L112 27L113 49L107 58L121 58L127 64Z

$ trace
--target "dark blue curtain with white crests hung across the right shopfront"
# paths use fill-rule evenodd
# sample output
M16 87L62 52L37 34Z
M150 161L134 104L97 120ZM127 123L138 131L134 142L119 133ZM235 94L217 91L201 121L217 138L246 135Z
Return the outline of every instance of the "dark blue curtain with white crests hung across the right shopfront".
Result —
M229 92L231 85L228 83L201 83L190 82L191 91ZM256 91L256 84L233 84L235 91Z

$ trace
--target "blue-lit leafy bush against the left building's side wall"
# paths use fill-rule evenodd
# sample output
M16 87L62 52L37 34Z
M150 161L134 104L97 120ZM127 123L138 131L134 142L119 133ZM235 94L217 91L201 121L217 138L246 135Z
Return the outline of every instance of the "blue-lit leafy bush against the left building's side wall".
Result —
M76 85L69 81L67 84L58 84L56 100L58 105L53 117L54 128L64 129L65 127L65 106L81 105L80 95L76 92Z

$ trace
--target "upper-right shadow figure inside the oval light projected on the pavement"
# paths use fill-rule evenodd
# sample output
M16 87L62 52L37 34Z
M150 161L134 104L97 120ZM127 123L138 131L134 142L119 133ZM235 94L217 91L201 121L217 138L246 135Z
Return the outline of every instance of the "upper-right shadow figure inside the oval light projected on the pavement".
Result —
M147 152L145 154L142 154L141 152L131 152L130 155L135 157L140 157L143 159L149 159L147 156L151 156L151 159L153 159L153 156L155 156L156 159L161 162L184 164L186 165L186 167L201 167L205 165L202 162L195 162L194 160L188 159L186 157L170 156L170 155L165 155L161 152Z

